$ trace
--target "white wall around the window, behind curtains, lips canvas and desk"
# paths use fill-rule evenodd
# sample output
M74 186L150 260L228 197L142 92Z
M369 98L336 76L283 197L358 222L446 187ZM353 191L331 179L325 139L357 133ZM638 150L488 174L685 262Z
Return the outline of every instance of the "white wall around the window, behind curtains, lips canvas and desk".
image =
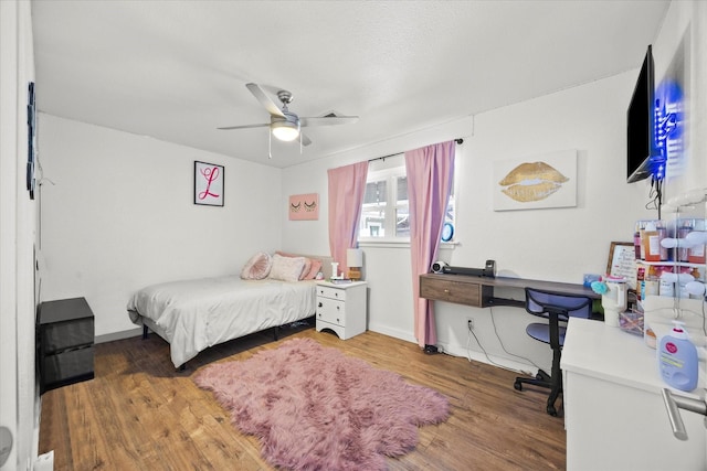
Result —
M562 90L473 118L391 139L284 171L284 194L320 192L327 202L326 169L357 160L413 149L425 143L463 137L457 146L457 246L440 258L455 266L482 267L497 261L500 275L555 281L582 282L585 272L605 271L612 240L632 240L635 220L655 216L645 210L648 186L625 182L625 110L637 71ZM494 212L493 162L578 150L577 207ZM309 180L304 175L312 175ZM326 211L310 232L304 224L284 224L283 240L292 250L328 248ZM414 341L410 253L407 247L365 246L369 291L369 329ZM523 292L509 296L523 299ZM439 345L456 355L485 360L476 341L467 350L466 318L475 319L484 347L506 365L528 356L544 367L550 350L525 334L532 319L521 309L474 309L437 303ZM496 329L492 323L496 322ZM499 340L511 353L505 353ZM520 360L521 363L527 363Z

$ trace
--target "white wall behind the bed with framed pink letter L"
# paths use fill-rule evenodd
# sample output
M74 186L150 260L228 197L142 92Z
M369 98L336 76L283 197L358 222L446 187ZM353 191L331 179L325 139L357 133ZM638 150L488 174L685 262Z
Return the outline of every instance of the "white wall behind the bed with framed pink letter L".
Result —
M281 171L40 115L42 300L85 297L96 335L131 331L146 285L239 274L281 246ZM224 165L224 206L193 204L194 160Z

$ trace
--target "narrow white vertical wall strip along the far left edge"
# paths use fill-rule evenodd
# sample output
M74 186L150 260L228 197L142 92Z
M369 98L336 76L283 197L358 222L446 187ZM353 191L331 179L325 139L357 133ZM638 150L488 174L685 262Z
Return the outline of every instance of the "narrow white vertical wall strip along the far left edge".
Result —
M38 452L34 381L36 201L25 189L28 83L34 79L29 2L0 2L0 426L12 435L3 470L30 469ZM4 447L9 443L2 443Z

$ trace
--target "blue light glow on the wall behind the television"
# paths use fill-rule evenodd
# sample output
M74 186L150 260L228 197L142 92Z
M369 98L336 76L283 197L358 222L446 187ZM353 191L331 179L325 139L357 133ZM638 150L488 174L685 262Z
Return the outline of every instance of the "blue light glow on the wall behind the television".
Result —
M680 85L671 79L661 82L655 90L655 146L661 158L655 162L653 175L678 175L685 167L684 94Z

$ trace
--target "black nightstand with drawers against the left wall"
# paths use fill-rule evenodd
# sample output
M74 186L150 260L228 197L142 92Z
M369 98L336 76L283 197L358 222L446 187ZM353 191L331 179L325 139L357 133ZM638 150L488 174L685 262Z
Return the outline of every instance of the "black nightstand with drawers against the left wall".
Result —
M40 394L93 379L93 311L84 298L42 302L36 335Z

